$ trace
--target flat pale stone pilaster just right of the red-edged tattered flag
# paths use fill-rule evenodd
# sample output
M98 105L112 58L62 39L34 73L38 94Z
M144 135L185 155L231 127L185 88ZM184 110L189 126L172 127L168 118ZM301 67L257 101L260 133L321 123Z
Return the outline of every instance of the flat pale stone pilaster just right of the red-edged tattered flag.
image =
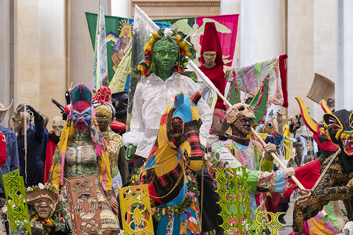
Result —
M300 111L295 97L314 110L306 97L314 80L314 0L288 0L288 56L288 113L294 116Z

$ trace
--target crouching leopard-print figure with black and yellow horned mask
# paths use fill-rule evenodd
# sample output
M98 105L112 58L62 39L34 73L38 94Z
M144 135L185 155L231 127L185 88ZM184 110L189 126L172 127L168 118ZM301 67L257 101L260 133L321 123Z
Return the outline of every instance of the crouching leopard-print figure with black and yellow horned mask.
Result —
M304 221L316 216L331 200L342 200L348 219L353 221L353 113L346 109L325 113L323 122L331 141L339 145L341 152L314 191L299 192L293 215L293 231L298 234L302 232ZM324 161L321 174L333 156Z

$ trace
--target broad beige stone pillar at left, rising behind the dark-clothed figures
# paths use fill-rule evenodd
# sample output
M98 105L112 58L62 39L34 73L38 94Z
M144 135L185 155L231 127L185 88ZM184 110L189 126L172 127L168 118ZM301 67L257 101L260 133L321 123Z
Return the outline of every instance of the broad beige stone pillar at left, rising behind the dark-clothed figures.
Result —
M18 0L18 102L28 102L51 121L65 104L64 0Z

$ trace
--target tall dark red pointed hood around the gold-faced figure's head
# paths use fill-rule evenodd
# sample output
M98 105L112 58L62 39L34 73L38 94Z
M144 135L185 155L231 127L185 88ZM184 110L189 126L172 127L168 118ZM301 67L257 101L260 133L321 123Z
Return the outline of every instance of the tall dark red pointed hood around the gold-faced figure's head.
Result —
M204 40L201 47L201 62L204 64L204 52L217 52L216 64L224 65L222 48L214 22L207 22L204 26Z

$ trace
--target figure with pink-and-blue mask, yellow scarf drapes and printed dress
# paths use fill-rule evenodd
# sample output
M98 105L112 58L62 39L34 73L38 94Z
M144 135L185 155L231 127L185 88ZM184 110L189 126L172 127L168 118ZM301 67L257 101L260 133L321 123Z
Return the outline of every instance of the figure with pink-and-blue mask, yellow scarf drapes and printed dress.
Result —
M120 231L113 213L118 213L119 205L111 188L109 155L94 115L92 91L80 83L70 90L70 98L71 112L53 156L49 179L66 201L64 177L75 180L94 176L103 232Z

